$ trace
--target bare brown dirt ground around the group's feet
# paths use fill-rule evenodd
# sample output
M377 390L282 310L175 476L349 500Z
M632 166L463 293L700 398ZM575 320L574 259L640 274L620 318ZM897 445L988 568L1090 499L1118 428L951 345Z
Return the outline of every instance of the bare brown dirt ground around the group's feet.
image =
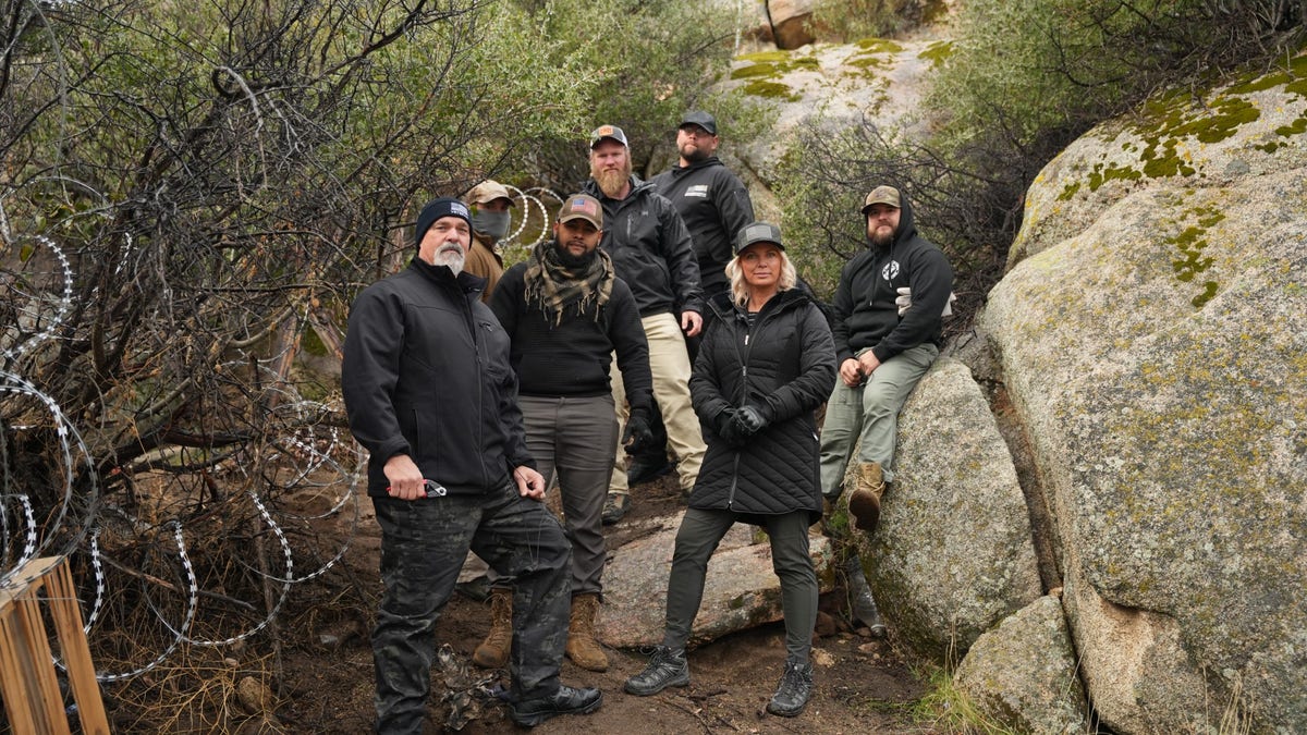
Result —
M673 476L638 485L629 521L668 513L680 502ZM367 502L365 501L365 506ZM337 526L339 530L339 526ZM331 532L324 528L323 532ZM629 534L627 523L606 528L609 547ZM286 616L288 638L299 641L282 651L284 679L277 687L276 717L282 732L367 732L372 727L372 660L367 642L380 592L375 522L365 519L341 569L312 595L299 596ZM537 732L936 732L915 722L912 702L925 693L908 663L886 640L848 629L843 592L822 598L823 615L814 638L816 692L797 718L765 711L784 662L784 630L771 624L690 651L690 685L652 697L622 692L626 677L639 672L646 657L635 650L609 650L609 670L595 674L565 660L562 679L570 685L599 687L603 706L589 715L558 717ZM471 666L473 649L489 629L488 603L455 595L440 619L438 640L451 646L482 691L507 683L506 672ZM497 676L498 674L498 676ZM433 677L427 732L452 731L451 694L444 677ZM461 732L473 735L515 730L502 705L473 697L459 711L469 721ZM264 731L268 731L264 728Z

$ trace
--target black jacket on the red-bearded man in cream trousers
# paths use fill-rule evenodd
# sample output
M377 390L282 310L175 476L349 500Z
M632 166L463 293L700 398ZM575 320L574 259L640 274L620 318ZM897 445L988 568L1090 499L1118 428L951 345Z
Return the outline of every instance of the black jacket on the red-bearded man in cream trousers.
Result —
M637 177L631 177L625 199L608 196L595 179L587 180L583 190L604 205L604 239L599 246L613 258L617 277L631 288L640 316L702 314L703 290L690 230L672 203Z

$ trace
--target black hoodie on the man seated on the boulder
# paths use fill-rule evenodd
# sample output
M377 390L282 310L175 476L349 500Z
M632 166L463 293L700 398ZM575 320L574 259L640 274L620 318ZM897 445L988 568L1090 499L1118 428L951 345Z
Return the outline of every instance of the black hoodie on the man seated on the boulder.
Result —
M941 344L940 315L953 293L953 268L938 247L916 233L907 196L901 195L899 203L899 226L890 245L880 248L868 239L868 248L839 275L831 303L838 364L868 347L885 362L920 344ZM899 316L894 299L903 286L912 289L912 307Z

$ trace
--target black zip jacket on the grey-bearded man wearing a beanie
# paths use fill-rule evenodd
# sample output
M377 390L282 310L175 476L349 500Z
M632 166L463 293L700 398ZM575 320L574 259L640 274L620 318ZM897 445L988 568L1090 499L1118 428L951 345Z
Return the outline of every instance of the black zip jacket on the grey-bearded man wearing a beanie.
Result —
M508 336L480 301L485 279L408 268L358 296L341 390L349 428L371 453L367 492L384 497L386 462L406 454L451 493L477 494L535 467L527 451Z

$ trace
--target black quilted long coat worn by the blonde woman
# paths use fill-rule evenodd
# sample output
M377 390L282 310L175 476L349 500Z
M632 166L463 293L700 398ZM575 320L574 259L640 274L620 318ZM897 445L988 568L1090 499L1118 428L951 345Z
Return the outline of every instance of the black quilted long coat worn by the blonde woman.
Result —
M710 307L718 318L690 377L694 411L708 445L690 507L732 510L749 523L808 510L817 522L821 489L813 412L835 386L830 327L797 289L772 297L752 328L729 294L719 294ZM714 419L724 408L749 403L769 424L736 449L715 433Z

